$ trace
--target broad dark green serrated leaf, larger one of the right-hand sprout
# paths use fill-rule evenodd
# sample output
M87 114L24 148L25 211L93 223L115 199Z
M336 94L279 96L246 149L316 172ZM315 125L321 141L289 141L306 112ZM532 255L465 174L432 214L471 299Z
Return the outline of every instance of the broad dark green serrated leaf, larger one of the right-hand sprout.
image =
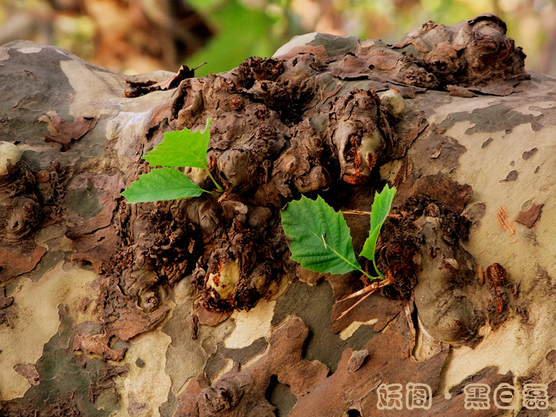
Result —
M292 243L291 259L307 270L345 274L361 270L343 215L325 200L302 196L281 211L282 227Z

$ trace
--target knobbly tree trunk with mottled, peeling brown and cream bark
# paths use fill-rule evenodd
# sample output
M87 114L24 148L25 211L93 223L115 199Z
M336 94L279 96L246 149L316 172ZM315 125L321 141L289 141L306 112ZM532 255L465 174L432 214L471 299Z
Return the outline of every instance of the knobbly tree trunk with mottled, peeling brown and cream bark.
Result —
M2 414L502 414L464 407L473 381L546 384L550 416L556 80L524 58L492 15L393 45L304 35L202 78L1 47ZM142 154L208 118L224 195L126 204ZM359 253L385 181L394 284L334 320L363 282L291 261L279 211L319 193ZM377 408L409 382L430 410Z

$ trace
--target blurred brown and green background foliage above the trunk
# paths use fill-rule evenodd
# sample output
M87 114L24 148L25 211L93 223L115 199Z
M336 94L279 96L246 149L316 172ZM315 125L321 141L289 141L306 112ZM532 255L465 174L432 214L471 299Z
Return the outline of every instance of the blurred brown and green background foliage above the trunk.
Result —
M302 33L395 42L429 20L486 12L507 23L528 70L556 73L553 0L0 0L0 44L55 44L129 74L206 61L196 72L204 75L272 56Z

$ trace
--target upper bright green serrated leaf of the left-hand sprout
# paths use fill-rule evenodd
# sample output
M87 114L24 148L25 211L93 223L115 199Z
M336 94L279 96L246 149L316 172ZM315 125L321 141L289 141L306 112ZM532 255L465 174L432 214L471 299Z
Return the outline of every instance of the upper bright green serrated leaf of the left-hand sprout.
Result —
M143 159L152 166L206 169L206 149L211 140L208 133L210 126L211 121L208 120L202 133L192 132L189 129L164 133L162 143L143 156Z

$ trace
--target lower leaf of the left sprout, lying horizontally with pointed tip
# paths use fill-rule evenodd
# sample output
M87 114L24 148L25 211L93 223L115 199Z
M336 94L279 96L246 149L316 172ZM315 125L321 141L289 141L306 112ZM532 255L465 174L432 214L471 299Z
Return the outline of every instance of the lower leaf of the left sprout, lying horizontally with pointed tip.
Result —
M148 174L140 174L122 195L129 204L157 202L186 197L199 197L204 190L191 181L186 174L173 168L157 168Z

